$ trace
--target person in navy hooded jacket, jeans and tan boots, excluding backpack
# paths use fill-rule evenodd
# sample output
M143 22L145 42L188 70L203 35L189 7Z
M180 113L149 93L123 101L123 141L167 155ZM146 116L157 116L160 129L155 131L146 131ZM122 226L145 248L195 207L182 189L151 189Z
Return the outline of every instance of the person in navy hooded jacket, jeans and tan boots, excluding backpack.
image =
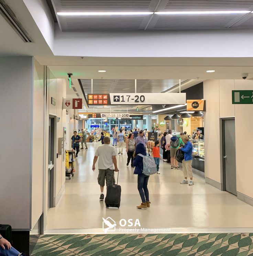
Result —
M138 190L141 196L142 203L136 206L138 209L147 209L150 207L149 194L147 189L147 182L149 176L145 175L143 171L143 158L138 154L146 155L146 148L144 144L139 143L135 149L135 157L133 158L134 173L138 174Z

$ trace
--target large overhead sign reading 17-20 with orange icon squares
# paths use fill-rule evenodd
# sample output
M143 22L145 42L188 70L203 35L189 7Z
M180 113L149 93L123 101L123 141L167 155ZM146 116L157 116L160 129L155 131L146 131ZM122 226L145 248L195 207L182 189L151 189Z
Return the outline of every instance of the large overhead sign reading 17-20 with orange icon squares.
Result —
M88 105L167 105L185 103L186 93L88 94Z

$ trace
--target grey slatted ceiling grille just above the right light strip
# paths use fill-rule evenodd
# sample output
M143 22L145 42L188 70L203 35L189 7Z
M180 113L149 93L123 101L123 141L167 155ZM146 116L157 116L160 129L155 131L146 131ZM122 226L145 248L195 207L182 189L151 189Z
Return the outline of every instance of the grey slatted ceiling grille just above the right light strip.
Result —
M248 10L253 5L252 0L169 0L165 9L226 9Z

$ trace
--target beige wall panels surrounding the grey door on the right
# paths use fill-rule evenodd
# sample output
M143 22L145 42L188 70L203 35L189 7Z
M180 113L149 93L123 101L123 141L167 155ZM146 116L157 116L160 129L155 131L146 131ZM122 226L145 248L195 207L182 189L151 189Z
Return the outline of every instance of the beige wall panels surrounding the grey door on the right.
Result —
M245 146L253 144L253 104L232 104L232 90L252 90L251 80L207 80L204 82L204 98L207 102L205 119L205 175L221 182L219 119L235 117L236 189L253 198L251 157L245 157ZM244 139L241 139L244 136ZM246 137L245 137L246 136ZM246 141L246 142L245 142Z

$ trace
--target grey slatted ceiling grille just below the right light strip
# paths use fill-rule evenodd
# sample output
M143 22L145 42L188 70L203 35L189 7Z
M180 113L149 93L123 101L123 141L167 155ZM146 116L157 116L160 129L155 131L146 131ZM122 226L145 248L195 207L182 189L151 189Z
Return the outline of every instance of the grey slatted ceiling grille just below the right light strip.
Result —
M159 17L154 29L225 28L236 16L169 16Z

